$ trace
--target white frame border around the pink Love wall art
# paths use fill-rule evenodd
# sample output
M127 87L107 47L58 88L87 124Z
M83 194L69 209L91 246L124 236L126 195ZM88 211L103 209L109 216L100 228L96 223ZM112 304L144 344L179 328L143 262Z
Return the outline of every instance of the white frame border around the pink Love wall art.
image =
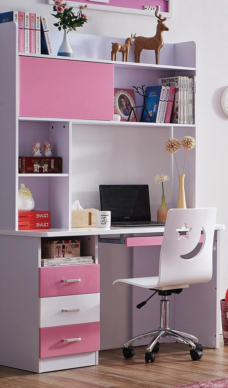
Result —
M97 10L105 10L110 12L122 12L124 14L135 14L135 15L147 15L147 16L155 16L154 11L157 9L159 10L158 5L145 5L147 9L133 9L133 8L123 8L123 7L114 7L110 5L103 5L103 4L93 4L93 1L88 2L74 2L69 1L67 2L70 7L78 7L79 5L89 5L90 9L97 9ZM97 0L96 0L97 1ZM163 17L173 17L173 0L164 0L168 2L168 12L162 12L161 14ZM156 3L156 0L153 0L153 2ZM48 4L53 5L53 0L47 0ZM102 1L102 3L107 3L106 0Z

